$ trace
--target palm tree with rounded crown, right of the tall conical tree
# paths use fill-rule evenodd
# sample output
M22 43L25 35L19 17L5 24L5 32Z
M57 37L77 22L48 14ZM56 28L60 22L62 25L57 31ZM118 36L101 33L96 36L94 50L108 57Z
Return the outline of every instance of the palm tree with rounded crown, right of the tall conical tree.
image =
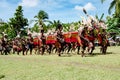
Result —
M41 28L43 28L44 22L49 22L47 20L49 18L48 14L43 10L40 10L34 18L37 19L37 20L35 20L35 22L36 22L36 24L41 26Z

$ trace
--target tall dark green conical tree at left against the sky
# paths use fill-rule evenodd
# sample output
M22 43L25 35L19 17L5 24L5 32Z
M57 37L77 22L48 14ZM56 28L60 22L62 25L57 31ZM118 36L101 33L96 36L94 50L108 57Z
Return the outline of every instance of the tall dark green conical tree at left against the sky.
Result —
M14 31L13 33L15 33L15 36L17 35L17 32L20 32L21 30L25 31L25 28L28 25L28 19L24 18L22 6L17 7L14 17L9 20L10 27Z

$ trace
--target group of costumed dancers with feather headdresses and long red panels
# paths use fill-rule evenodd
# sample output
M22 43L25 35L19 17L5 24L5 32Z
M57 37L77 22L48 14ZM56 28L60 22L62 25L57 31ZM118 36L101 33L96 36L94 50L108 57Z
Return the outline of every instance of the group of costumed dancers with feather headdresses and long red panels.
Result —
M103 22L99 22L103 24ZM7 39L7 35L2 33L2 38L0 39L0 53L1 54L17 54L22 53L27 55L28 52L30 55L33 53L44 55L45 52L49 54L56 52L58 56L61 56L62 53L70 53L77 49L77 54L81 53L81 56L85 56L85 51L87 50L88 54L92 55L93 50L95 49L95 41L98 41L99 46L101 46L101 52L106 53L107 46L109 42L107 40L106 29L101 27L95 21L91 21L91 25L83 24L80 26L76 35L72 34L72 31L67 32L69 36L65 36L63 32L63 25L58 24L56 30L52 34L46 33L43 29L40 30L39 36L32 36L32 33L28 34L27 38L21 38L17 35L16 38L12 40ZM51 39L48 36L54 37ZM73 40L73 37L75 40ZM37 39L37 41L35 40ZM80 51L81 47L81 52ZM34 50L34 52L33 52Z

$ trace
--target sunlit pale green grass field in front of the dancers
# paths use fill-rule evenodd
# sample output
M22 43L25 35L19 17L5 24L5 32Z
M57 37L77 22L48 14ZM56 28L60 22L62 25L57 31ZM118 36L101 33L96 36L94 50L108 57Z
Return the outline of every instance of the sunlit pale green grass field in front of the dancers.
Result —
M120 47L81 57L0 55L0 80L120 80Z

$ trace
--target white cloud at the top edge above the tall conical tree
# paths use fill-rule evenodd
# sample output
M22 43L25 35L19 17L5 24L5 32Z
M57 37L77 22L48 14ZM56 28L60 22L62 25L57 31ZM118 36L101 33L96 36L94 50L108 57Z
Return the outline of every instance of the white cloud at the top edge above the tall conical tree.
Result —
M22 0L19 5L24 7L35 7L38 5L39 0Z

